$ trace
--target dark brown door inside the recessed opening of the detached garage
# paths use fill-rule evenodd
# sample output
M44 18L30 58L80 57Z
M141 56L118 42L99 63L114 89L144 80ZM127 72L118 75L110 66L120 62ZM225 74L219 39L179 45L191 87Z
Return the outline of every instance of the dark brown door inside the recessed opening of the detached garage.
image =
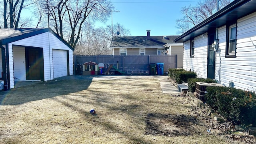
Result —
M43 48L25 48L26 80L44 80Z

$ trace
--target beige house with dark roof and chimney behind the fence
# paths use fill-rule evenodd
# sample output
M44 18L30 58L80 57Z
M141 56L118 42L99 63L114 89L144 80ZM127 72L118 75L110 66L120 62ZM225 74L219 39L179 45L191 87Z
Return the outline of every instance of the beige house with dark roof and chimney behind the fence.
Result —
M177 67L183 66L183 43L176 43L178 36L114 36L110 48L113 55L177 55Z

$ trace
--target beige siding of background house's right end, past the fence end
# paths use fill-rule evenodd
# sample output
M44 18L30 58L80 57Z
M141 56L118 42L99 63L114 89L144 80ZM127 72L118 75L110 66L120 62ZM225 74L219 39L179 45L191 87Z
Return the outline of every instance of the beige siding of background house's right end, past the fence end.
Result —
M177 68L183 68L183 46L171 46L168 54L177 54Z

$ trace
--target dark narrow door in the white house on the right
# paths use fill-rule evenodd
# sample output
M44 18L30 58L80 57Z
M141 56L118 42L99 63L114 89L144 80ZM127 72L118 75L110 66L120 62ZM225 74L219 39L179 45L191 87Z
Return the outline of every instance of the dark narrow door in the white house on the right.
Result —
M215 52L212 48L215 32L208 33L208 57L207 57L207 78L214 79L215 74Z

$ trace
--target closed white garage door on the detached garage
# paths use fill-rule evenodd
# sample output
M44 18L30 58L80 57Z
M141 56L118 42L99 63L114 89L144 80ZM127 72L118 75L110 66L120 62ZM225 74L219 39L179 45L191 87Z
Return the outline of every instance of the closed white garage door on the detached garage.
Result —
M68 75L68 58L66 50L52 50L53 77Z

